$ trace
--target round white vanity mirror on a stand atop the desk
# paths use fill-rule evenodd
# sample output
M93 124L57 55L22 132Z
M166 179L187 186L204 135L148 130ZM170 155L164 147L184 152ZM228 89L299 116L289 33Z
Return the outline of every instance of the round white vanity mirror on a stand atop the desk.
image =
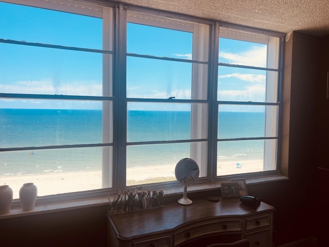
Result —
M184 205L189 205L192 200L187 198L187 186L194 184L199 177L199 167L191 158L183 158L175 168L175 176L177 181L184 185L183 197L177 202Z

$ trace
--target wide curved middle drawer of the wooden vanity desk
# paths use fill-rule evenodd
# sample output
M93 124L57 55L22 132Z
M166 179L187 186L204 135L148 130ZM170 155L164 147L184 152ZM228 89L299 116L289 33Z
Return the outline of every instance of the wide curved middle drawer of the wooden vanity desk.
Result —
M174 233L174 244L177 245L190 239L208 234L236 231L242 231L241 220L211 222L207 224L195 225L194 227Z

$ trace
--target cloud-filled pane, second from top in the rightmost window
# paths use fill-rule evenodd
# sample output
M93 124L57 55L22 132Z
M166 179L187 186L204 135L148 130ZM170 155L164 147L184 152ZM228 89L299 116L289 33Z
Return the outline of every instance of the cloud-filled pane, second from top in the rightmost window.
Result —
M277 90L277 72L218 66L218 100L277 102Z

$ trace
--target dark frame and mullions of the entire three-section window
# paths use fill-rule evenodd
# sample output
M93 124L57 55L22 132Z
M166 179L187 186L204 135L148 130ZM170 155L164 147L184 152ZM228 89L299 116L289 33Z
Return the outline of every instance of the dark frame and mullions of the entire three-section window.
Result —
M8 2L8 3L17 3L17 4L24 4L24 5L32 5L32 3L35 3L35 0L29 0L29 1L22 1L22 0L2 0L1 2ZM108 193L118 193L120 191L123 191L127 188L125 185L125 172L126 172L126 112L127 102L141 102L141 101L148 101L148 100L141 100L141 99L132 99L132 98L126 98L125 92L126 92L126 83L120 83L122 81L126 82L126 56L128 55L126 53L126 19L127 19L127 11L132 12L139 12L141 14L152 14L152 15L158 15L163 17L169 17L175 20L181 20L181 21L190 21L195 23L201 23L201 24L207 24L209 25L209 49L208 49L208 75L207 75L207 99L206 100L177 100L177 102L206 102L208 104L208 150L207 150L207 177L199 179L197 181L197 184L209 184L214 182L220 182L225 181L230 178L257 178L257 177L264 177L267 175L278 175L280 171L280 149L281 149L281 125L282 125L282 59L283 59L283 45L284 45L284 37L285 34L274 32L274 31L268 31L268 30L261 30L251 27L245 27L235 24L228 24L223 23L220 21L214 21L214 20L208 20L208 19L201 19L194 16L184 15L184 14L178 14L178 13L172 13L167 11L160 11L155 9L149 9L145 7L138 7L134 5L126 5L122 3L111 3L103 1L73 1L74 3L79 4L92 4L99 7L112 7L113 8L113 23L114 23L114 40L113 40L113 64L112 66L109 65L109 63L105 64L106 61L103 61L103 68L104 67L112 67L113 68L113 77L111 78L113 80L112 89L107 90L113 90L113 95L111 97L81 97L81 99L95 99L95 100L111 100L113 102L113 144L111 145L113 147L113 166L112 166L112 188L104 188L104 189L97 189L93 191L83 191L83 192L71 192L71 193L65 193L59 196L45 196L38 201L44 201L44 202L57 202L57 201L65 201L65 200L72 200L72 199L81 199L81 198L90 198L90 197L100 197L100 196L106 196ZM40 4L40 3L39 3ZM44 8L51 9L51 5L49 3L44 3ZM39 7L39 6L38 6ZM61 9L63 11L63 9ZM64 12L72 12L72 9L64 9ZM80 13L80 12L79 12ZM81 13L80 13L81 14ZM110 25L111 26L111 25ZM259 33L263 36L272 36L276 38L280 38L280 45L279 45L279 67L278 67L278 103L268 103L268 105L278 105L279 107L279 113L278 113L278 145L277 145L277 166L276 170L272 171L264 171L264 172L255 172L251 174L234 174L234 175L224 175L217 177L216 176L216 166L217 166L217 159L216 159L216 149L217 149L217 114L218 114L218 105L221 101L217 101L217 74L218 74L218 42L219 42L219 29L225 27L229 29L236 29L236 30L243 30L243 31L249 31L252 33ZM109 30L109 26L103 27L103 30L107 29ZM111 32L111 31L110 31ZM106 33L106 31L103 31L103 34ZM108 32L107 32L108 33ZM0 37L1 38L1 37ZM11 41L14 42L14 41ZM30 44L32 45L32 44ZM103 47L104 49L104 47ZM191 60L192 62L194 60ZM197 62L197 61L196 61ZM104 65L105 64L105 65ZM103 69L104 71L104 69ZM104 72L103 72L104 73ZM108 80L110 79L109 74L105 75ZM103 82L104 85L104 82ZM13 94L3 94L0 93L0 97L2 98L21 98L20 95L13 95ZM22 98L30 98L35 97L31 95L25 95ZM76 97L68 97L67 96L48 96L48 95L41 95L38 96L41 98L51 98L51 99L76 99ZM152 99L154 102L170 102L170 99ZM150 100L151 102L151 100ZM176 101L175 101L176 102ZM252 103L253 104L253 103ZM258 104L258 103L255 103ZM263 103L262 103L263 104ZM120 114L120 112L124 111L125 114ZM122 123L125 123L123 125ZM0 149L0 151L6 151L3 149ZM102 172L103 177L111 171ZM177 182L167 182L167 183L161 183L161 184L152 184L152 185L145 185L144 188L172 188L177 186ZM134 187L134 186L133 186Z

